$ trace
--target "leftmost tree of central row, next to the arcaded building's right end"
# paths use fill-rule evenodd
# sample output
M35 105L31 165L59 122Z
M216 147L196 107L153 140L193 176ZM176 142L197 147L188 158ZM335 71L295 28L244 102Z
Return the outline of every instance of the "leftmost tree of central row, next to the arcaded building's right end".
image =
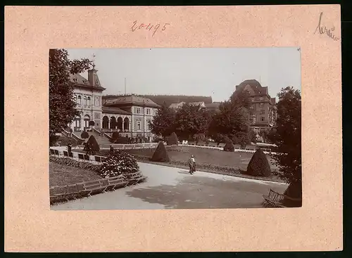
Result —
M175 115L175 110L162 105L153 120L149 122L151 132L158 136L169 136L175 129Z

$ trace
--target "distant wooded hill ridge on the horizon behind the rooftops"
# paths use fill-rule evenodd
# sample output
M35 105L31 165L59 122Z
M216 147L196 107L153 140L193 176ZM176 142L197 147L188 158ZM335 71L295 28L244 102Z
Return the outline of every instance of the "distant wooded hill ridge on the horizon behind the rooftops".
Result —
M141 94L136 94L137 96L142 96L144 98L150 98L152 101L157 103L158 105L163 105L165 103L166 105L171 105L172 103L180 103L180 102L201 102L203 101L204 103L213 103L213 99L211 96L185 96L185 95L141 95ZM103 99L109 99L109 98L116 98L121 95L106 95L103 96Z

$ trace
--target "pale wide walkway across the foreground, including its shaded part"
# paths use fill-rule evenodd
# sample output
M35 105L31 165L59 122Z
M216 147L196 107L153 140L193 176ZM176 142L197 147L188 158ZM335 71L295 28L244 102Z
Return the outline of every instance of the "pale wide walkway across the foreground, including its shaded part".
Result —
M51 209L207 209L262 207L270 188L283 193L284 183L244 179L139 163L148 181L117 191L73 200Z

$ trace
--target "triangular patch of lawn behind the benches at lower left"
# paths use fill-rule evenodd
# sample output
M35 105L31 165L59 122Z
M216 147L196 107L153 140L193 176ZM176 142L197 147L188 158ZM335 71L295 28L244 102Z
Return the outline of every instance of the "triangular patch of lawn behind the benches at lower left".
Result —
M49 162L50 186L65 186L70 183L80 183L96 179L101 179L101 177L93 171Z

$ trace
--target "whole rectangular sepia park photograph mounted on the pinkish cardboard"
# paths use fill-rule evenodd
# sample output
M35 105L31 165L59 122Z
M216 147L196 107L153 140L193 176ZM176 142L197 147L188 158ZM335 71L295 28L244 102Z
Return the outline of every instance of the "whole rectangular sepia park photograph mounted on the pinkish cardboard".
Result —
M50 49L51 210L302 205L301 49Z

